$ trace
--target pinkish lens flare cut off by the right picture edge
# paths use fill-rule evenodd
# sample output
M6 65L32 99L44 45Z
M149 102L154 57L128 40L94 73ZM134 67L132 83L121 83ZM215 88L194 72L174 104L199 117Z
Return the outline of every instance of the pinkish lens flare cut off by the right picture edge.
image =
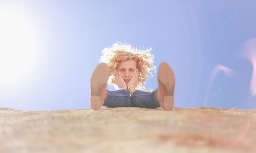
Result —
M250 82L250 92L252 97L256 95L256 38L251 38L244 43L243 55L252 64L252 76Z

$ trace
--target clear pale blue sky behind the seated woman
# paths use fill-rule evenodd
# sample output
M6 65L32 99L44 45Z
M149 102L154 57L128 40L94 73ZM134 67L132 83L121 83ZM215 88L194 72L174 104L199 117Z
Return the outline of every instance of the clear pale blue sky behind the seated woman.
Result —
M0 107L90 108L90 77L101 50L120 41L152 48L157 70L162 61L172 66L175 107L256 108L250 91L253 65L243 57L246 42L256 37L255 8L255 1L0 1L4 15L17 14L35 41L28 41L33 56L20 60L33 61L30 71L18 81L0 82ZM8 49L0 52L6 55ZM217 71L213 77L217 65L236 75ZM146 88L157 89L156 76Z

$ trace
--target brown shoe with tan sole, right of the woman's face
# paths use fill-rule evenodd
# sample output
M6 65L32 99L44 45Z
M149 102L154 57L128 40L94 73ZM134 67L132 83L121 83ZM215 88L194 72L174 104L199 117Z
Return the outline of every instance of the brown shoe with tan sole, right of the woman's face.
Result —
M173 110L174 107L175 76L169 64L162 62L158 70L157 100L164 110Z

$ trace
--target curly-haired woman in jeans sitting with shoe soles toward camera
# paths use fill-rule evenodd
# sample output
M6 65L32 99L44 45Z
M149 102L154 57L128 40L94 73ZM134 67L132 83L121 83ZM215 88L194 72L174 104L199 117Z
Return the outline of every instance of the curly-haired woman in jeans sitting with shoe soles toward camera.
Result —
M175 76L172 68L162 62L158 70L158 89L145 92L147 76L151 76L153 55L151 50L140 51L130 45L115 43L102 51L101 63L91 77L91 107L99 110L106 107L163 107L172 110L174 106ZM106 90L106 83L119 89ZM140 89L140 90L139 90Z

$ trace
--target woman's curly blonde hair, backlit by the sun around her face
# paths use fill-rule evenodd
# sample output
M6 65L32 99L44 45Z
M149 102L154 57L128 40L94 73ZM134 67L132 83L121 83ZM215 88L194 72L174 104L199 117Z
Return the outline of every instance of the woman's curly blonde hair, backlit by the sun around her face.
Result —
M144 88L144 82L148 76L152 76L151 71L156 68L153 65L154 55L148 53L150 49L139 50L138 48L132 48L131 45L122 44L120 42L114 43L112 47L104 48L102 50L102 56L99 62L105 62L110 68L109 84L115 85L115 70L120 62L125 60L134 60L138 68L138 89Z

